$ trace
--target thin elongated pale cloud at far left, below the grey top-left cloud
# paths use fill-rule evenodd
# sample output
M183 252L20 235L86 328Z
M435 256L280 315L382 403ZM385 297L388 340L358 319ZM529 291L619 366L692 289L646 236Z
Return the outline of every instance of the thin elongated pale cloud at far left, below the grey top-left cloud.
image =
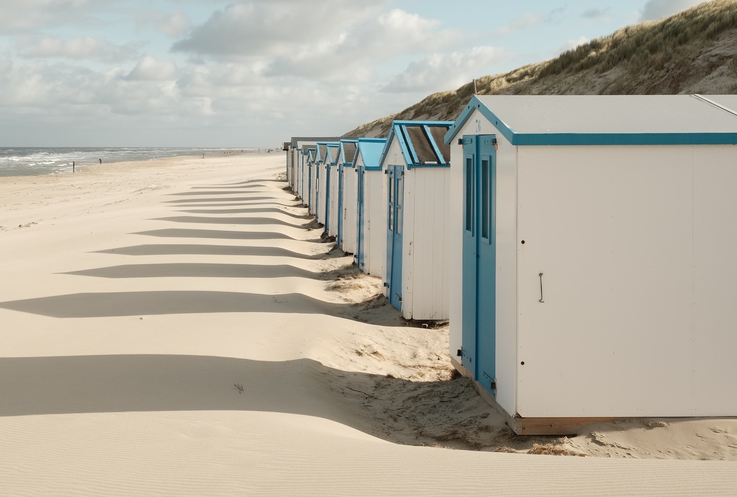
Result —
M101 62L121 62L138 57L134 43L115 45L105 38L72 38L63 40L52 36L25 37L16 43L18 54L27 58L89 59Z

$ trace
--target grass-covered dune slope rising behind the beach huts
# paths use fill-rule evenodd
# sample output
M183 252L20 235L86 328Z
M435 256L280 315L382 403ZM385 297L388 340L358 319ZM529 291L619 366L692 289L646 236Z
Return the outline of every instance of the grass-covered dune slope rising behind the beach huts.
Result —
M714 49L722 41L726 46ZM477 78L476 87L481 95L679 94L701 88L699 82L708 82L720 68L737 77L736 45L737 0L714 0L618 29L545 62ZM704 83L700 93L737 93L737 80L718 91L710 88ZM386 136L393 119L455 120L473 92L473 82L468 82L432 94L346 136Z

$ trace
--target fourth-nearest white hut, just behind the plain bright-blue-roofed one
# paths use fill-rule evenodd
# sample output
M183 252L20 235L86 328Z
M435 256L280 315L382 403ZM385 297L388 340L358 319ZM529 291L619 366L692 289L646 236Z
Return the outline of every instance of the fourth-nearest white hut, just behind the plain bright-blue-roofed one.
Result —
M338 247L354 254L358 228L358 175L354 167L357 140L340 140L338 152Z

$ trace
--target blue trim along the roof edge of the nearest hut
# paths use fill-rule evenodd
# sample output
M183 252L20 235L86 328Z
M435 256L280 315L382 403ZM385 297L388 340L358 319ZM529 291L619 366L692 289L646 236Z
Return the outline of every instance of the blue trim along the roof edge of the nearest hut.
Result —
M520 145L737 145L735 133L515 133L489 107L475 96L461 112L455 124L445 133L450 145L455 135L466 124L474 110L478 110L509 143Z

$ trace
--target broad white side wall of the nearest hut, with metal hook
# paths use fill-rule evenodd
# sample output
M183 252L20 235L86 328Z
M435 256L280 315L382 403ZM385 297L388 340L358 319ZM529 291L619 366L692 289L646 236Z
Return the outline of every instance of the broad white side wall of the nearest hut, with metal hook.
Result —
M736 415L733 156L540 148L519 151L520 415Z

